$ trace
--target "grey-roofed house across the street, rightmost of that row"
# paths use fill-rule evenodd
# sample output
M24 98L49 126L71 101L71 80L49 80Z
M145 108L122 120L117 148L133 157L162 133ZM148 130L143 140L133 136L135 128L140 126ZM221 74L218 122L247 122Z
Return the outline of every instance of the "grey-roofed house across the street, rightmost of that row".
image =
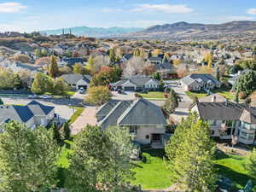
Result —
M211 74L190 74L180 80L184 90L212 90L220 88L221 82L215 79Z

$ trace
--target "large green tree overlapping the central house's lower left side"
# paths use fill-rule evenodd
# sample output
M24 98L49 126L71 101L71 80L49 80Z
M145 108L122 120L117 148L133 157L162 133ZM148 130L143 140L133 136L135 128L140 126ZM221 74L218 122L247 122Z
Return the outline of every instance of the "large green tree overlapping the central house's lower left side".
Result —
M93 150L92 150L93 148ZM127 129L87 125L74 138L67 174L67 189L80 191L126 191L132 178L131 140Z

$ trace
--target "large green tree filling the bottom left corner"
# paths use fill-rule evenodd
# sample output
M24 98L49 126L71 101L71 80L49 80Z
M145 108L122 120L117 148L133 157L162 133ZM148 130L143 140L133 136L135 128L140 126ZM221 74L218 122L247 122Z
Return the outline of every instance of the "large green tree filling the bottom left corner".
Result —
M0 135L1 191L45 192L53 189L59 148L50 131L32 130L13 121Z

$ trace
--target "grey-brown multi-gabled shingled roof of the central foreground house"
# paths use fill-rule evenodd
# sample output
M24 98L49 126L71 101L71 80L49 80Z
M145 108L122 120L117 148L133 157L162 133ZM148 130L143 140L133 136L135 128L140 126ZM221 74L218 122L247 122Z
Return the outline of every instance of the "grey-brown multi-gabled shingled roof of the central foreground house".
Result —
M108 114L103 115L103 113ZM134 101L114 101L105 104L96 113L103 129L111 125L167 125L160 107L143 98Z

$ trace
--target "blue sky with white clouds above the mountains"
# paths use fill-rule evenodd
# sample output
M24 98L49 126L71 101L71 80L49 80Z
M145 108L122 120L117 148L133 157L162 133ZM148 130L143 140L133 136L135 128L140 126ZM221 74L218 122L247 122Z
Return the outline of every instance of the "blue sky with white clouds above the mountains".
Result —
M256 0L0 0L0 32L256 20Z

